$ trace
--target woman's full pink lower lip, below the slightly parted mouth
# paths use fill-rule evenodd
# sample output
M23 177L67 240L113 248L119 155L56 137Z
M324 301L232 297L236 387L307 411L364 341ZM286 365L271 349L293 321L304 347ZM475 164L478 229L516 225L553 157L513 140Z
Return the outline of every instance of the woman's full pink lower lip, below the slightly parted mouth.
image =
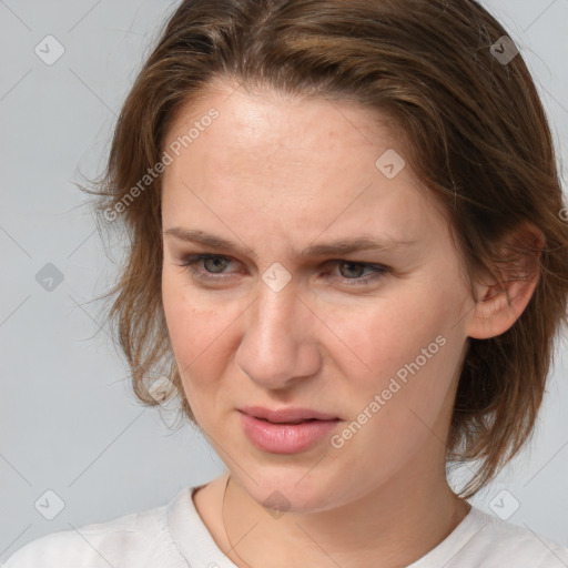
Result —
M272 454L297 454L312 447L341 422L312 420L301 424L273 424L241 413L246 437L258 448Z

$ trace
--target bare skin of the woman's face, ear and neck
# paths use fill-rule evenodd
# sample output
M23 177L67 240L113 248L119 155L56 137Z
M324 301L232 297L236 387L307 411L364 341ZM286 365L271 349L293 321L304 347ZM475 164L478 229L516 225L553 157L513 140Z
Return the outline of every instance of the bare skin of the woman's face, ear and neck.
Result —
M476 304L432 195L409 165L394 179L375 166L388 149L405 153L376 112L225 84L179 113L164 148L211 108L220 116L168 166L162 187L170 338L184 394L231 474L226 531L226 475L194 494L196 509L237 566L407 566L469 510L447 484L444 442L467 338L510 327L534 283L511 283L513 303L494 282L476 284ZM172 227L240 250L184 242ZM413 244L300 256L363 233ZM229 257L194 266L217 281L183 266L197 253ZM276 262L291 276L278 292L262 280ZM388 271L349 286L373 274L349 262ZM444 346L341 448L327 436L276 455L243 433L244 405L329 413L341 433L439 336ZM283 515L262 506L275 490Z

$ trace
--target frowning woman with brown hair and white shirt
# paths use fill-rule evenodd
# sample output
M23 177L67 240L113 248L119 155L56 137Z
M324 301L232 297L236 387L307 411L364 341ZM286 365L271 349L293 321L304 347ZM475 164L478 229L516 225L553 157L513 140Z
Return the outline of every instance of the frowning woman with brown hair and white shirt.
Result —
M135 392L176 388L227 473L9 568L568 566L467 501L532 432L568 295L541 102L477 2L182 2L98 194Z

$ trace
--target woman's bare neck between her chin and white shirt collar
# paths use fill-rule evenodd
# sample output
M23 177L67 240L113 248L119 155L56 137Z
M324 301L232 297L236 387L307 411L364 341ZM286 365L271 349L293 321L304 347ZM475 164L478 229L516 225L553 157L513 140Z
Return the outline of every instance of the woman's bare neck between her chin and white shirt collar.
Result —
M403 475L363 498L305 514L266 509L231 478L223 504L227 556L251 568L408 566L442 542L469 511L445 475L439 479L424 483L422 477L409 485Z

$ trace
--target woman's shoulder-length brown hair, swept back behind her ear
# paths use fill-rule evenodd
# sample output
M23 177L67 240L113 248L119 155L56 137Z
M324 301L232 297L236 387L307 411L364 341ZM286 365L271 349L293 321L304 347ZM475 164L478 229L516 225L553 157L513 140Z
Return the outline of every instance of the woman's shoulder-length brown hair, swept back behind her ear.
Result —
M405 160L447 213L471 285L481 273L523 277L510 267L536 256L536 290L515 324L468 338L446 465L479 463L460 493L475 495L531 437L567 323L568 223L552 136L521 54L499 61L491 48L506 30L474 0L186 0L160 33L122 106L105 171L87 190L98 222L130 237L104 297L113 298L108 318L140 402L159 404L148 388L158 368L183 392L161 298L162 178L150 175L164 168L164 136L180 110L219 82L355 102L397 125ZM527 222L542 245L504 248Z

